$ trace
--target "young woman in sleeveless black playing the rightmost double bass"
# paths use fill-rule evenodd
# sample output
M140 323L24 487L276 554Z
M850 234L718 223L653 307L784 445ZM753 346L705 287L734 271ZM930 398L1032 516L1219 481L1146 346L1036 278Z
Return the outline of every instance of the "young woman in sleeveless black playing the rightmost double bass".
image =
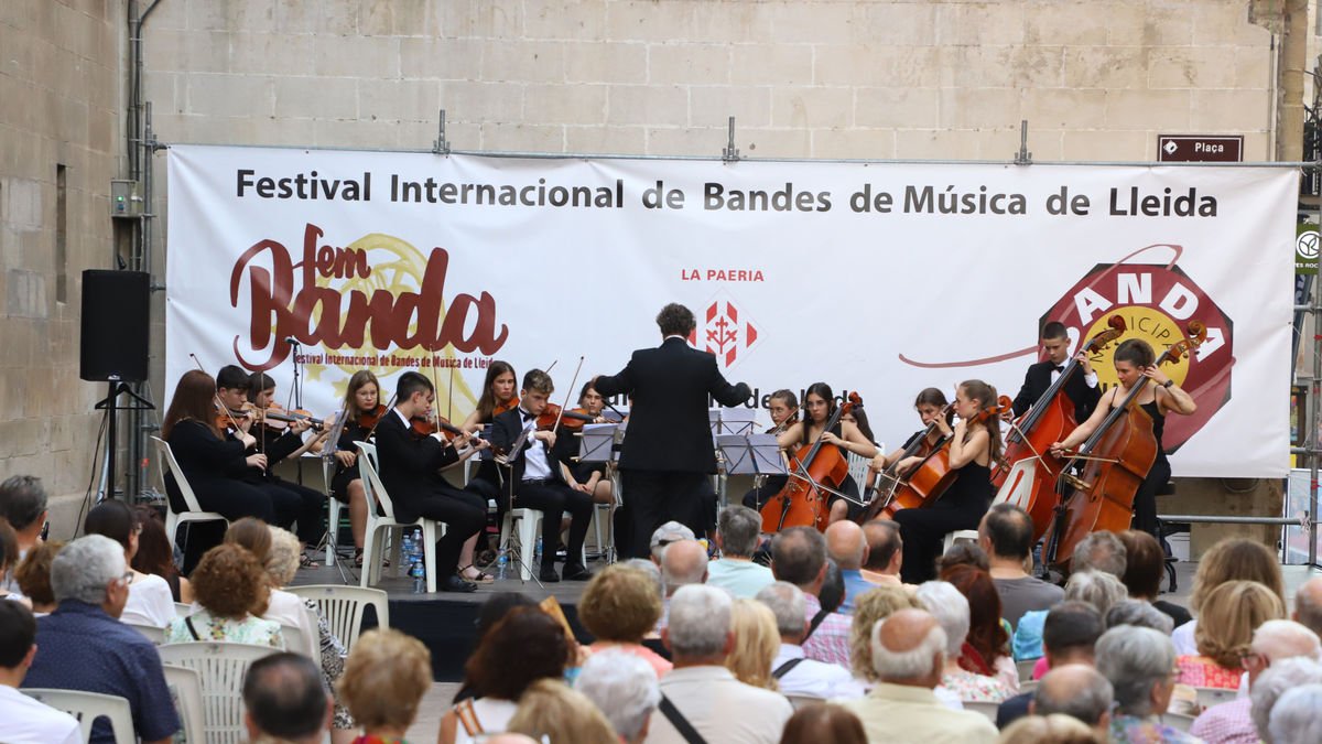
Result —
M1161 442L1166 416L1169 413L1188 416L1198 410L1198 405L1192 396L1153 364L1154 360L1153 348L1142 339L1126 339L1116 347L1113 363L1120 384L1103 393L1092 416L1071 432L1064 441L1054 442L1051 453L1060 457L1087 441L1107 418L1107 414L1117 408L1136 385L1142 385L1145 389L1138 392L1134 404L1151 417L1153 437L1157 440L1157 459L1134 492L1133 528L1161 539L1161 535L1157 534L1157 490L1170 481L1170 461L1166 459L1166 449ZM1151 384L1147 384L1149 380Z

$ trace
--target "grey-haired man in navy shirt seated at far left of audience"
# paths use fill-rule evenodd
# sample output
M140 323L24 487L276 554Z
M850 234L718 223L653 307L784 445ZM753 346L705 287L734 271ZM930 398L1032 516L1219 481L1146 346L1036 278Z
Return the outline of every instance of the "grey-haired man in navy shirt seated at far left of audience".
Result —
M50 563L50 588L59 606L37 621L37 651L25 687L54 687L118 695L128 700L134 729L145 744L169 741L178 716L156 646L119 622L128 601L124 548L102 535L65 545ZM93 725L91 741L115 736L104 719Z

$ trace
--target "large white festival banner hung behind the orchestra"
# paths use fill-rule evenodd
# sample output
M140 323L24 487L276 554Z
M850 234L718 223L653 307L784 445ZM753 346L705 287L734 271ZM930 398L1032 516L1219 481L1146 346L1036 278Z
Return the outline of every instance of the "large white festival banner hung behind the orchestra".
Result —
M415 368L461 418L492 359L557 363L559 402L580 355L579 383L617 372L682 302L758 405L858 391L894 446L921 388L1014 396L1042 323L1077 343L1120 312L1158 352L1208 327L1167 369L1199 405L1167 420L1175 474L1284 477L1296 195L1280 168L173 147L168 387L192 352L267 371L284 400L292 336L317 412L357 369L389 397ZM1109 351L1095 365L1114 383Z

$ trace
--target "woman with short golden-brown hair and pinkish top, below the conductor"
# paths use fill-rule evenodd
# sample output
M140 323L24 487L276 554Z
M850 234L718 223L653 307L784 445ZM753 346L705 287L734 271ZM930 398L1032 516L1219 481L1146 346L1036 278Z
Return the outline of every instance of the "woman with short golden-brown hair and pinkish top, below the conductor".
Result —
M590 649L619 649L648 662L665 676L674 665L642 645L642 638L661 620L661 596L644 572L627 565L608 565L588 581L578 604L579 621L596 641Z

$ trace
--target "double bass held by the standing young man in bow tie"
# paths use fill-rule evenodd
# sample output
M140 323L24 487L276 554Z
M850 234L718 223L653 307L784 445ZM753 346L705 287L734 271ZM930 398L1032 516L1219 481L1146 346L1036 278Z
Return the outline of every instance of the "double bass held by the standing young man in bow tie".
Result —
M1125 319L1112 315L1108 328L1088 339L1079 353L1093 353L1110 346L1128 330ZM1077 428L1073 401L1066 395L1066 383L1080 367L1071 357L1051 387L1042 393L1032 408L1014 422L1005 438L1005 462L992 469L992 485L998 488L997 500L1019 504L1032 518L1032 539L1036 541L1051 524L1055 499L1050 498L1064 463L1051 454L1051 442L1060 442ZM1035 462L1023 462L1035 461ZM1019 465L1023 462L1023 465ZM1013 478L1009 478L1010 475ZM1009 485L1006 483L1009 481Z

